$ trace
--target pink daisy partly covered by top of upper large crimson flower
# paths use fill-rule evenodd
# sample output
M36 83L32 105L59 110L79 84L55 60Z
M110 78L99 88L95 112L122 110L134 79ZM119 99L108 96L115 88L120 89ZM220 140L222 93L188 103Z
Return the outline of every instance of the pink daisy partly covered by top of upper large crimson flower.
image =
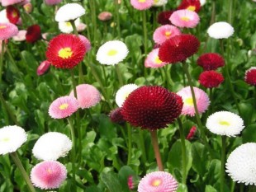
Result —
M180 35L181 32L178 30L176 26L164 25L159 26L156 30L154 30L153 40L156 44L163 44L165 40L170 39L175 35Z

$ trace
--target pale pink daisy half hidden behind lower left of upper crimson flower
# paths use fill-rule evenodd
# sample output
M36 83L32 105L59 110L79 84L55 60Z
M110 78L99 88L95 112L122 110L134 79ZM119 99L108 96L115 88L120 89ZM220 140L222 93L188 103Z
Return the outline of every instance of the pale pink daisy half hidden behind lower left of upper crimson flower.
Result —
M145 59L146 68L161 68L166 64L159 59L159 49L153 49Z

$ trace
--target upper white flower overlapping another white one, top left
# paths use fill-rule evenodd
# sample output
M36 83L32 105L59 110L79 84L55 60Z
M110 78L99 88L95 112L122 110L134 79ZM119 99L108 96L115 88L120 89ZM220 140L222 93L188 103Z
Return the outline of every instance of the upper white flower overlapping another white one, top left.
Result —
M78 3L67 3L56 12L55 21L65 22L75 20L85 14L85 9Z

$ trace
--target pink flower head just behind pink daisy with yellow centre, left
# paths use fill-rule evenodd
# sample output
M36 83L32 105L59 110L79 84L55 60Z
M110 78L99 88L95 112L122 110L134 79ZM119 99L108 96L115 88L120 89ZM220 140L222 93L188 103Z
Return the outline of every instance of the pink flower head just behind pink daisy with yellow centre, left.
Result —
M81 84L76 87L76 90L78 105L82 109L90 108L101 101L101 93L92 85ZM74 96L73 91L70 92L69 96Z

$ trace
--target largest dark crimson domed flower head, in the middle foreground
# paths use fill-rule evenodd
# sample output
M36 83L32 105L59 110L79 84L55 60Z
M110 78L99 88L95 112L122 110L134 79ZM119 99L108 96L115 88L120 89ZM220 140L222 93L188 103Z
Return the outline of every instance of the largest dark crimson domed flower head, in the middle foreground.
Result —
M183 109L183 99L164 87L143 86L132 91L122 105L127 122L142 129L161 129L172 124Z

